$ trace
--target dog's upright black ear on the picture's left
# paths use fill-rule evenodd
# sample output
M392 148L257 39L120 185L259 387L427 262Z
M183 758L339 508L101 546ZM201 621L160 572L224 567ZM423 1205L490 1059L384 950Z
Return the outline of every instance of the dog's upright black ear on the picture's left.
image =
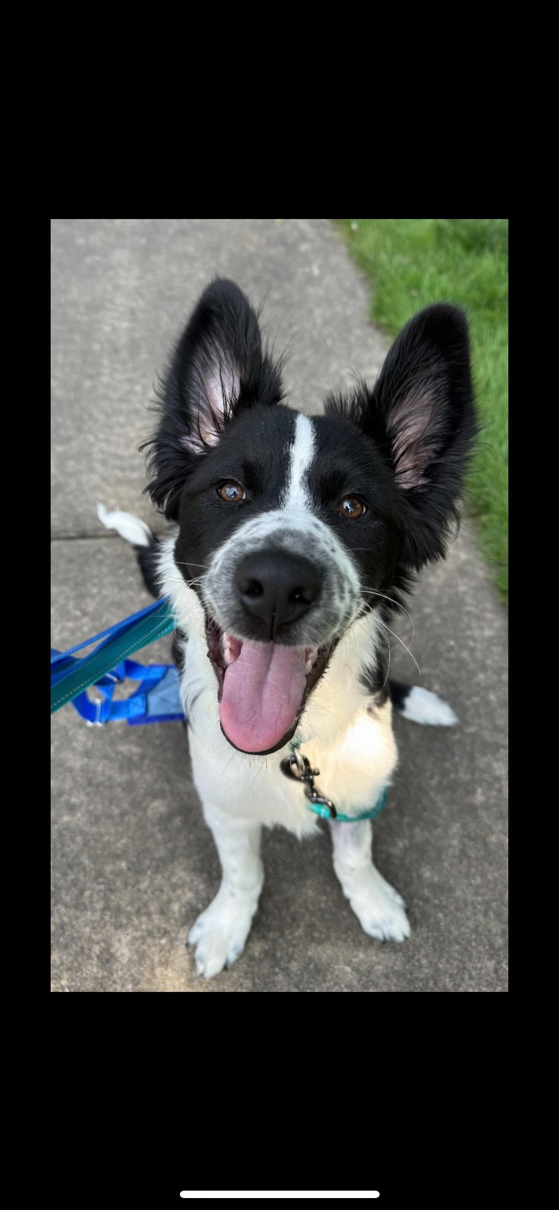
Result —
M281 365L263 350L257 315L235 284L204 290L157 391L160 422L149 449L146 486L157 508L177 520L180 495L197 460L226 424L255 403L283 398Z

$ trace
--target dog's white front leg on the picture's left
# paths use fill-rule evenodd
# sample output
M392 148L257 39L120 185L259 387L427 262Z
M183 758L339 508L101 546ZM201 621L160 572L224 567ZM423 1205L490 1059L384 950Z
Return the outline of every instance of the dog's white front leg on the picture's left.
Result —
M264 882L260 824L227 819L204 805L223 869L221 886L189 933L196 970L206 979L230 967L244 949Z

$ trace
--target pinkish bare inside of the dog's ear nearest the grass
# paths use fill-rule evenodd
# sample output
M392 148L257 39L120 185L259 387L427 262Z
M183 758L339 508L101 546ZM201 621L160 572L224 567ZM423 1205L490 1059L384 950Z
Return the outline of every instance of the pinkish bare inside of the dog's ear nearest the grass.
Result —
M388 432L400 488L421 488L428 482L423 471L437 456L439 422L433 396L407 396L396 404Z

